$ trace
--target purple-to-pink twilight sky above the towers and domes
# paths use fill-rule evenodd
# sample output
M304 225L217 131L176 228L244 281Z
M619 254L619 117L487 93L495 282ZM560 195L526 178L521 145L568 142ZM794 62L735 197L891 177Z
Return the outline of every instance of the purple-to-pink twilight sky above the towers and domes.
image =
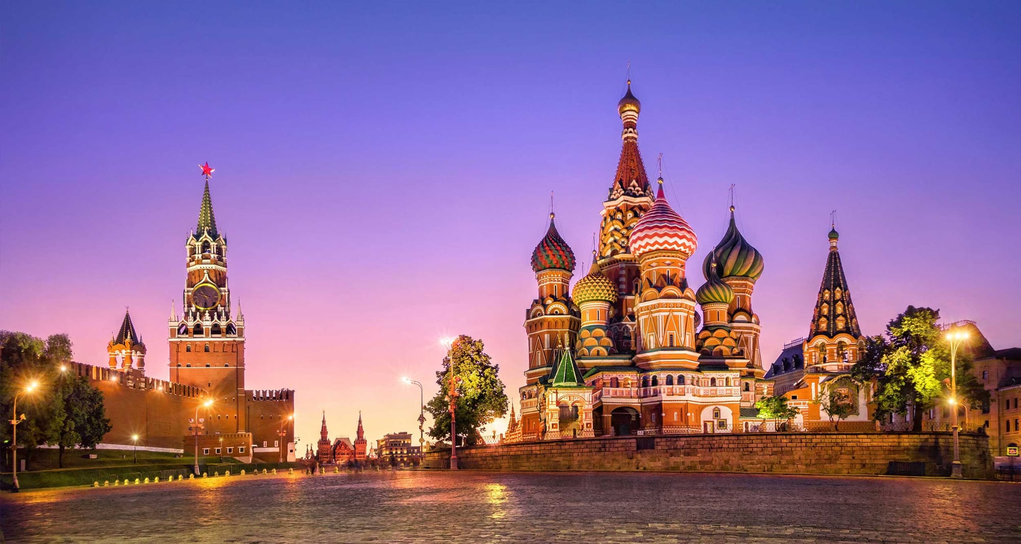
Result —
M299 448L323 409L414 430L398 379L434 393L444 335L517 396L549 191L587 266L628 61L695 262L737 184L764 360L808 331L834 208L863 332L928 305L1021 344L1016 2L98 4L0 14L0 328L104 364L131 305L165 378L208 160L247 384L297 390Z

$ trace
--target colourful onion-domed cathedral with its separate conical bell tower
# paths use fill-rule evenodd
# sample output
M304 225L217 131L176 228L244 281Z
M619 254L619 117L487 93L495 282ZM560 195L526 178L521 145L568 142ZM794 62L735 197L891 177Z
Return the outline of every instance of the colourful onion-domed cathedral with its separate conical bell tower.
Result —
M726 234L701 263L704 283L689 282L698 239L667 201L663 179L657 187L648 181L638 150L640 111L628 81L618 103L621 156L588 273L570 288L577 262L553 213L532 253L538 297L525 316L529 363L507 441L746 432L763 424L755 404L784 374L774 364L767 376L762 364L752 294L764 258L738 230L733 205ZM810 373L819 370L811 386L818 392L820 382L845 376L857 360L861 333L835 230L830 240L812 338L796 346L812 353L812 364L808 372L804 362L788 364L789 390L809 387Z

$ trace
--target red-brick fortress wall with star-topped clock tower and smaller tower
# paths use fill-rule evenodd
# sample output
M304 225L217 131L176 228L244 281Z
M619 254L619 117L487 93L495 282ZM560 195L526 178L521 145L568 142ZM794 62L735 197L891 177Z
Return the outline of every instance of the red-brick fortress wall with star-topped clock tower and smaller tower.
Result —
M146 346L128 312L107 344L108 367L74 363L70 369L103 392L113 429L101 447L131 447L138 435L140 447L192 453L189 426L197 415L204 427L200 454L294 460L294 391L245 389L245 320L240 306L232 304L227 239L209 196L211 171L203 167L198 228L185 241L182 311L179 315L172 304L166 324L169 381L146 377Z

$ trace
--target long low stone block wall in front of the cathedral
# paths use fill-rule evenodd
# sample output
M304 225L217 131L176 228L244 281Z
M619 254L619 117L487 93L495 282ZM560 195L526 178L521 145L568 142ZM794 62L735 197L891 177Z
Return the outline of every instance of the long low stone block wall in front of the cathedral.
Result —
M988 439L961 435L965 478L992 478ZM428 464L449 449L426 453ZM611 437L458 448L461 468L485 471L662 471L885 475L891 461L949 476L951 433L733 433ZM432 462L429 462L432 461Z

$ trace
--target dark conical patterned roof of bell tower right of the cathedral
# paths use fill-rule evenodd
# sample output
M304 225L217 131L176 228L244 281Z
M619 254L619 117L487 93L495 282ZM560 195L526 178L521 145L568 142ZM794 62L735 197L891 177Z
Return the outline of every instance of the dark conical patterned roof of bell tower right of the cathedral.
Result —
M826 257L826 269L823 270L823 282L819 286L809 337L824 335L833 338L843 333L859 338L862 331L858 327L855 304L850 301L850 291L847 289L847 277L843 274L840 252L836 248L838 237L835 229L830 231L828 238L830 251Z

